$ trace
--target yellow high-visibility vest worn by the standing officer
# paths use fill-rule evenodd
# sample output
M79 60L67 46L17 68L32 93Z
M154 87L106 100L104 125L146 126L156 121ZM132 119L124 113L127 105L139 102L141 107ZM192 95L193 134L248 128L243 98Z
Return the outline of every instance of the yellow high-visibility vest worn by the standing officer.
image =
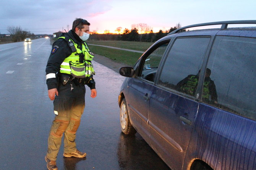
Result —
M67 41L67 37L59 37L63 38ZM82 50L78 48L78 44L76 44L71 38L68 41L73 42L76 51L71 53L70 56L65 58L63 63L60 65L60 73L71 74L76 78L86 78L95 74L92 59L94 54L89 50L87 44L82 43ZM79 62L79 55L84 55L83 62Z

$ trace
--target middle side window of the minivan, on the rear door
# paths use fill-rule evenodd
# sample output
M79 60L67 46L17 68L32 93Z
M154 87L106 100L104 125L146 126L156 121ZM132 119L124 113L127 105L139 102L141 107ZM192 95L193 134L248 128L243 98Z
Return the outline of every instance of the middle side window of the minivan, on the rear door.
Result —
M195 96L210 38L178 38L164 63L159 85Z

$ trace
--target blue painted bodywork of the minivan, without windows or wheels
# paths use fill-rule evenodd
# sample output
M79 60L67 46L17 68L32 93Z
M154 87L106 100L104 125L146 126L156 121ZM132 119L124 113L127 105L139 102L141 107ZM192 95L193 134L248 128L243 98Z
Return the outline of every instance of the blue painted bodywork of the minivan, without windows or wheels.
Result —
M202 98L203 75L206 73L199 77L198 84L201 87L198 88L198 98L159 85L161 69L157 71L154 82L147 82L139 76L137 77L140 67L142 67L140 63L143 62L145 54L151 51L151 48L154 48L157 43L171 39L159 64L159 67L162 68L165 58L177 38L196 36L210 37L201 67L206 72L207 62L209 62L214 41L217 39L216 36L256 38L256 29L178 32L167 35L154 43L135 64L134 77L127 78L122 85L121 93L124 94L129 107L131 124L172 170L189 170L193 162L197 160L205 162L216 170L256 169L256 121L232 110L227 111L221 104L219 107L214 104L206 104ZM251 49L253 51L253 48ZM254 49L254 51L256 50ZM255 52L251 54L253 53ZM237 60L238 63L239 61ZM256 59L252 62L256 62ZM237 64L237 66L240 65ZM224 69L224 74L227 71L228 69ZM255 74L248 75L250 75L251 81L255 82L255 77L252 77ZM217 78L215 77L215 79ZM243 81L242 77L240 80ZM250 79L247 78L246 81L248 80ZM255 90L255 86L252 86L251 82L250 87ZM251 94L253 96L249 97L255 98L254 91ZM239 96L242 97L243 94L239 94ZM251 101L251 99L245 101ZM250 109L253 110L253 108Z

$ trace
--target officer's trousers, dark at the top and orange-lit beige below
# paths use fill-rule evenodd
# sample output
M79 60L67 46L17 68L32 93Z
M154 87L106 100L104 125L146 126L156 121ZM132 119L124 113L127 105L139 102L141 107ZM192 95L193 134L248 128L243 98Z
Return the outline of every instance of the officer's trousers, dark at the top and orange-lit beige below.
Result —
M64 134L64 153L76 151L76 131L80 125L85 106L85 87L75 85L71 80L60 83L58 96L53 101L55 119L48 138L47 158L56 161Z

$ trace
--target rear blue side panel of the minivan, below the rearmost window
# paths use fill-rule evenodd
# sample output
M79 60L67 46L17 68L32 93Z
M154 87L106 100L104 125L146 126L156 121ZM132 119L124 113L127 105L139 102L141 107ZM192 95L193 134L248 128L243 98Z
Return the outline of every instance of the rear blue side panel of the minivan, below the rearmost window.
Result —
M199 104L185 167L188 167L189 160L198 158L213 169L254 170L255 139L255 121Z

